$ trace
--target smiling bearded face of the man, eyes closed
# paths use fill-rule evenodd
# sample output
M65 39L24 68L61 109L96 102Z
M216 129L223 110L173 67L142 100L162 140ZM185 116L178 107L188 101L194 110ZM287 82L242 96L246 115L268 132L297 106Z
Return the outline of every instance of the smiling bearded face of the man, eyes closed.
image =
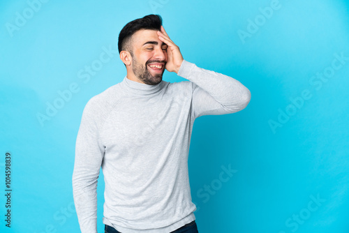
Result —
M133 34L132 70L141 82L155 85L163 79L168 61L168 45L155 30L141 29Z

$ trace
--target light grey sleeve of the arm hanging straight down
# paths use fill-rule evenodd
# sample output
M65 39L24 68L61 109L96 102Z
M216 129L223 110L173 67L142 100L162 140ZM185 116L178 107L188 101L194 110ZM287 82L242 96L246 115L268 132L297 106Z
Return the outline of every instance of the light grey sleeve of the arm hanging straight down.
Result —
M104 154L98 110L92 103L93 99L84 108L75 144L73 196L82 233L97 233L97 180Z

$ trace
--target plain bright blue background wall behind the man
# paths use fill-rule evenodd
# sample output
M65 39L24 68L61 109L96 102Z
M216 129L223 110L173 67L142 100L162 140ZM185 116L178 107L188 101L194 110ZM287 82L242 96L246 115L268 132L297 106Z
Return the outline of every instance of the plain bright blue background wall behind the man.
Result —
M242 112L195 121L189 173L199 232L349 232L349 61L335 57L349 57L348 1L47 1L36 11L31 2L0 3L1 232L80 231L71 176L82 110L126 75L117 53L98 59L117 50L127 22L150 13L163 17L184 59L236 78L252 95ZM102 67L86 75L92 64ZM314 77L324 72L326 81ZM163 80L184 79L165 71ZM59 102L72 84L75 93ZM54 103L61 108L40 123ZM235 170L225 182L222 166ZM103 190L101 174L98 232Z

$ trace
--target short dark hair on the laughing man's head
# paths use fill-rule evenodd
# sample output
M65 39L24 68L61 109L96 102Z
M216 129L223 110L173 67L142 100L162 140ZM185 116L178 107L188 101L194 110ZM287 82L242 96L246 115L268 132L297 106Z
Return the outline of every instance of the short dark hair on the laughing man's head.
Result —
M119 33L119 53L123 50L126 50L128 52L131 52L132 54L131 37L136 31L140 29L160 31L162 24L163 19L160 15L146 15L140 19L128 22L128 24L126 24Z

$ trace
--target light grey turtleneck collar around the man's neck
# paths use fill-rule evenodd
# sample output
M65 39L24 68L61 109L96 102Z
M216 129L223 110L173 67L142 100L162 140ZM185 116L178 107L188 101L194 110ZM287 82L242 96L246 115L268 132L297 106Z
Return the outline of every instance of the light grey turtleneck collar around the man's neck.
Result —
M127 76L124 77L124 80L120 83L126 91L130 91L139 95L149 95L152 93L156 93L161 90L163 87L163 80L156 85L149 85L140 82L135 82L133 80L129 80Z

